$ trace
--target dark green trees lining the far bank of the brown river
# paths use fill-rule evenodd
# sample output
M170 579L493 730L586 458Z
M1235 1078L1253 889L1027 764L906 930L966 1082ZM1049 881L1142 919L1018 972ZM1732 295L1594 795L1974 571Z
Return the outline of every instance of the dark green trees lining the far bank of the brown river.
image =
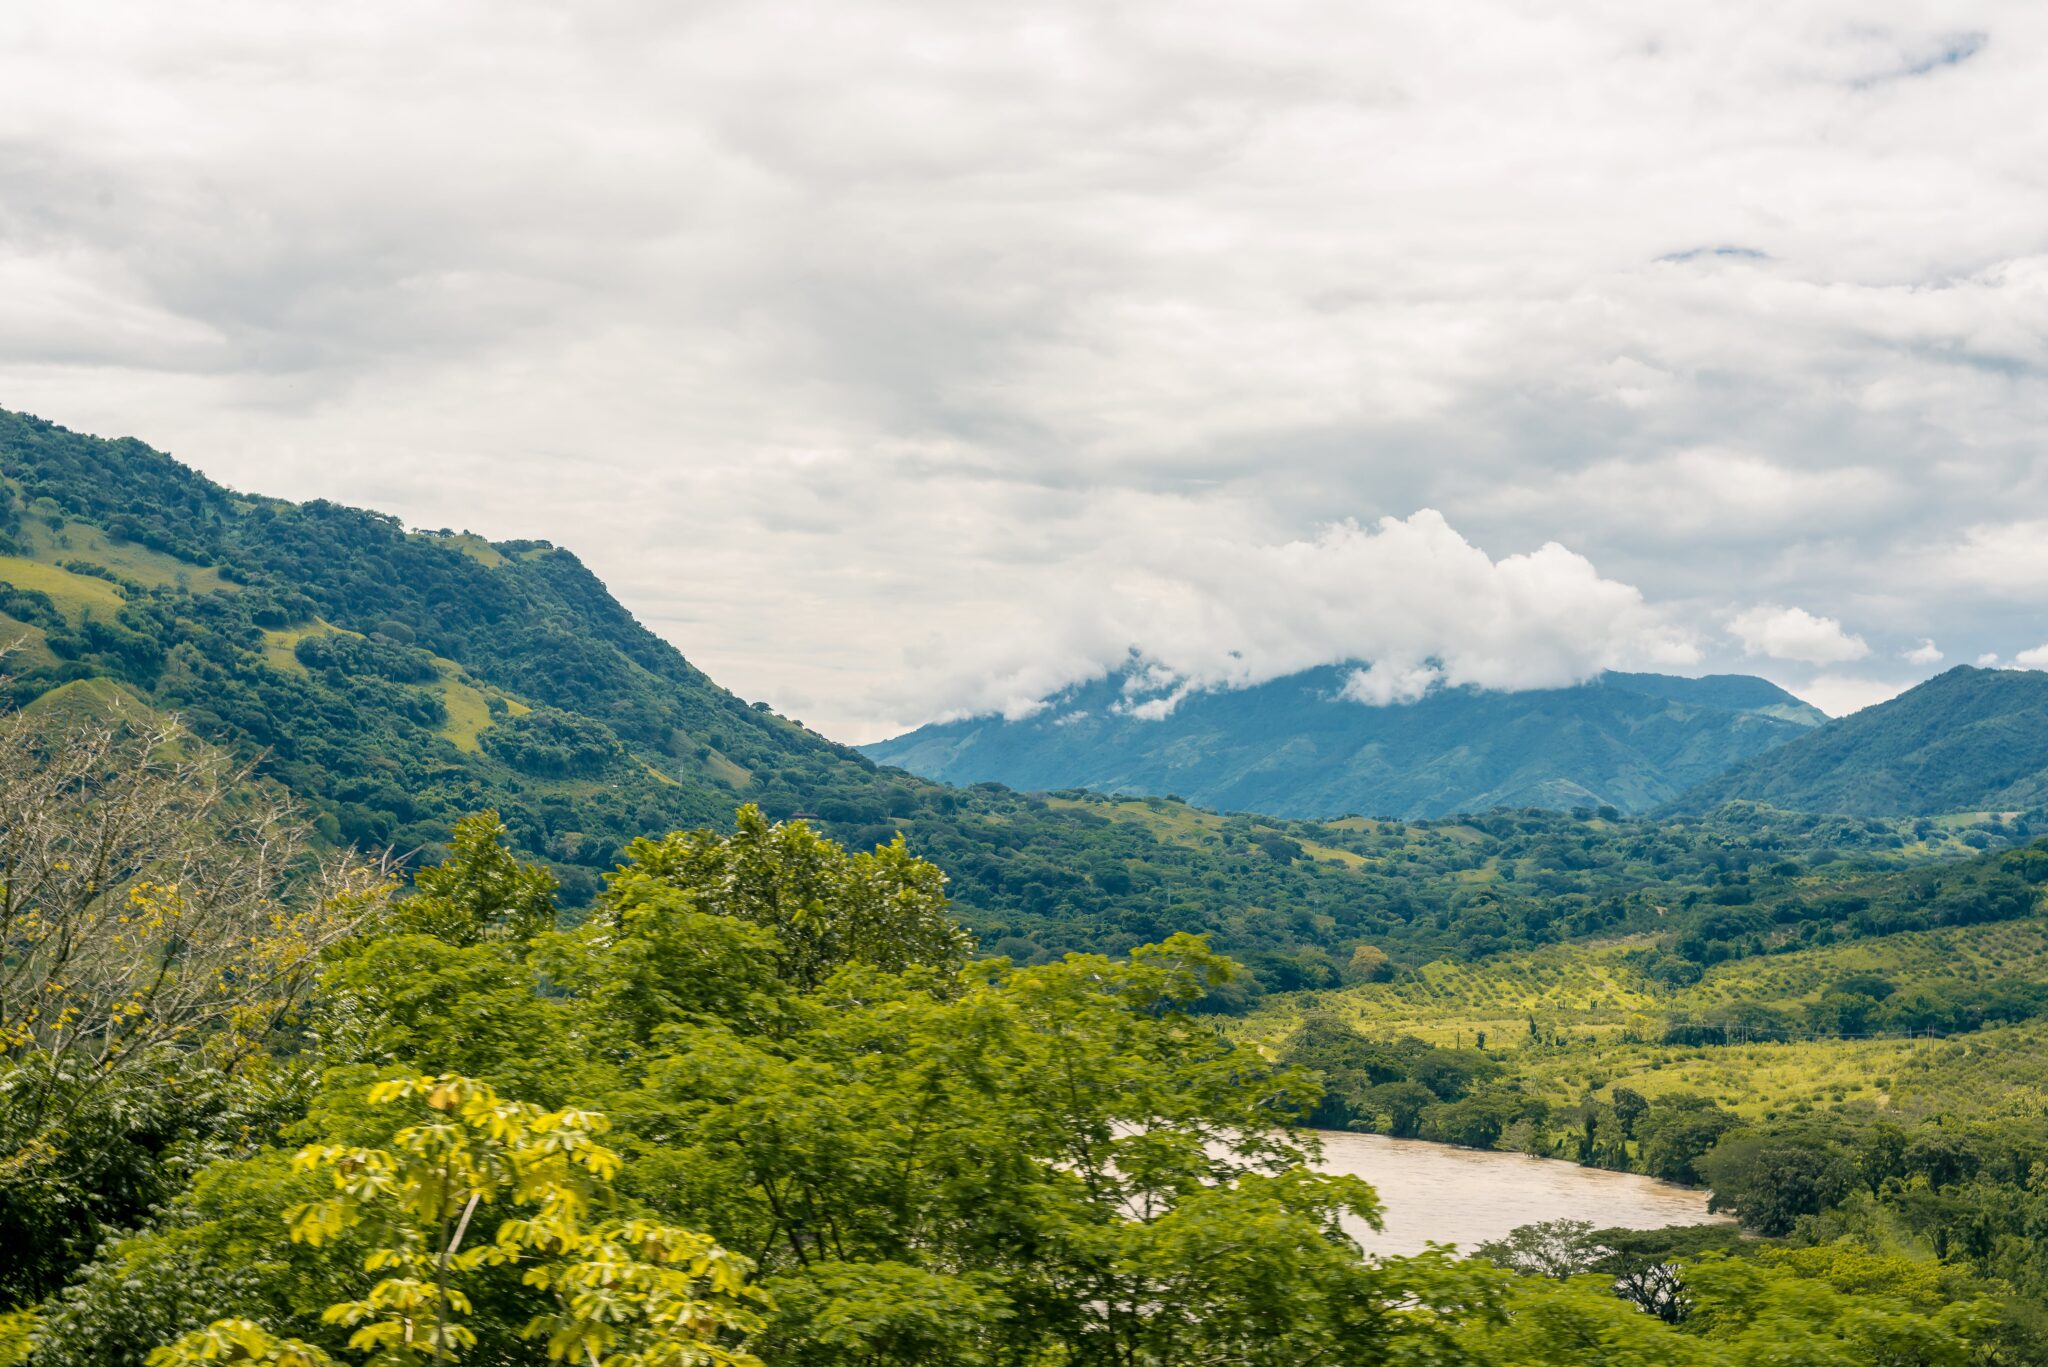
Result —
M2048 1193L2040 1183L2048 1127L2038 1121L1911 1123L1868 1105L1759 1121L1706 1096L1645 1096L1628 1086L1550 1105L1528 1092L1501 1055L1376 1041L1329 1014L1307 1017L1280 1058L1325 1082L1311 1113L1319 1125L1522 1150L1708 1187L1712 1207L1733 1213L1751 1236L1808 1250L1847 1240L1894 1262L1913 1252L1915 1277L1968 1293L1948 1299L1997 1306L2011 1355L1997 1361L2048 1355ZM1518 1271L1540 1271L1554 1234L1538 1230L1528 1246L1485 1252ZM1612 1234L1581 1242L1614 1244ZM1630 1254L1636 1265L1640 1252ZM1628 1258L1581 1262L1573 1275L1622 1277ZM1903 1267L1892 1273L1903 1275ZM1649 1285L1636 1279L1622 1293L1647 1295Z

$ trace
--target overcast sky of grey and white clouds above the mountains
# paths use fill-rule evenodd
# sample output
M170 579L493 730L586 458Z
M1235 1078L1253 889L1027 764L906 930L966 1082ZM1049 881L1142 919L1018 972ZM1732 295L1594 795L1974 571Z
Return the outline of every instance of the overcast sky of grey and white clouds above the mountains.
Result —
M846 740L2048 664L2036 0L0 8L0 406Z

